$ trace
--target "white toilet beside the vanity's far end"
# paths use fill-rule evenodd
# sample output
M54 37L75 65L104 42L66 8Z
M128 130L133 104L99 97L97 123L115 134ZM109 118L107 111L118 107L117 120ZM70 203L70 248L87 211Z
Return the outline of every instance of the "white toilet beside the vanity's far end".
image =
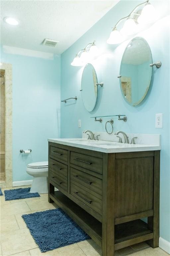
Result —
M48 193L48 161L28 164L27 173L33 176L31 193Z

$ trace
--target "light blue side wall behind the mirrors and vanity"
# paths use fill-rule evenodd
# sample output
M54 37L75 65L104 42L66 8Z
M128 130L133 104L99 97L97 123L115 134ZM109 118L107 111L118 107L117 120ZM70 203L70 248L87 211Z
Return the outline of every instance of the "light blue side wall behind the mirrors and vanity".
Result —
M138 1L140 3L141 1ZM145 99L136 107L129 106L122 97L119 79L120 64L124 50L129 42L108 45L107 38L116 22L135 7L136 1L120 1L90 30L61 55L61 98L77 96L77 101L61 103L61 137L81 137L82 131L105 131L105 122L94 122L92 116L126 114L126 123L114 119L114 129L129 133L161 134L160 169L160 236L170 241L170 166L169 166L169 1L150 1L158 11L160 20L150 28L136 34L148 42L153 61L162 61L160 69L153 68L153 76ZM164 17L164 18L162 18ZM104 82L99 88L97 105L87 112L81 99L82 67L70 65L75 54L88 43L96 40L101 51L100 57L93 61L98 81ZM163 128L155 128L155 114L163 113ZM78 119L82 126L78 128Z

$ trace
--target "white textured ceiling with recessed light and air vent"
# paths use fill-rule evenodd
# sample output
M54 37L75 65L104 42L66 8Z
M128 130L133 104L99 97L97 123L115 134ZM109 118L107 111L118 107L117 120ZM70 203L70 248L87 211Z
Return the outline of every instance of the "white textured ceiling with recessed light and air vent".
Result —
M119 1L1 0L1 45L61 54ZM6 24L4 17L20 21ZM44 38L59 41L43 46Z

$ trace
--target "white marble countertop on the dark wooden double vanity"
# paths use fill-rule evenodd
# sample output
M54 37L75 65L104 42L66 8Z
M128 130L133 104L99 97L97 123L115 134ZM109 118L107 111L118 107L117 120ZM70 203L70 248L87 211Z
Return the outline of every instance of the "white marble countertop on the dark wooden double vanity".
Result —
M151 135L151 136L152 136L152 141L154 141L153 140L154 135ZM159 136L159 135L156 134L155 136ZM86 138L48 139L48 141L66 145L66 146L89 149L89 150L94 150L94 151L99 151L99 152L104 152L104 153L151 151L151 150L160 150L161 149L160 142L157 144L155 144L155 143L153 143L153 144L127 144L127 143L119 143L119 142L114 142L114 141L109 141L109 140L87 140ZM142 141L142 139L140 139L140 141ZM158 141L158 138L157 138L157 141Z

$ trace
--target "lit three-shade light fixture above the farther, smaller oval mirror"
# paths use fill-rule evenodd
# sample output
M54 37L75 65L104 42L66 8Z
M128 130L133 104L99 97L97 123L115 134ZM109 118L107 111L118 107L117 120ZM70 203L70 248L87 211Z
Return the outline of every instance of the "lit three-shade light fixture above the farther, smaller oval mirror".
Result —
M87 62L93 60L99 55L99 49L95 45L96 41L88 44L84 49L80 50L73 61L71 62L72 66L83 66Z

